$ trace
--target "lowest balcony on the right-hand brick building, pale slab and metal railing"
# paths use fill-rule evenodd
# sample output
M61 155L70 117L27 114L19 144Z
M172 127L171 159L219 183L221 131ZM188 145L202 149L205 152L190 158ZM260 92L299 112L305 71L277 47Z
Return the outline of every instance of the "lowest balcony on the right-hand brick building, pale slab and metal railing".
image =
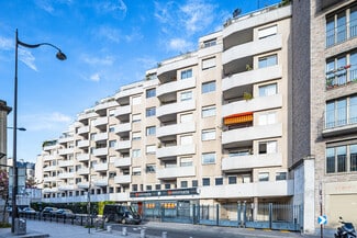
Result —
M323 137L348 135L357 132L357 117L331 120L324 123Z

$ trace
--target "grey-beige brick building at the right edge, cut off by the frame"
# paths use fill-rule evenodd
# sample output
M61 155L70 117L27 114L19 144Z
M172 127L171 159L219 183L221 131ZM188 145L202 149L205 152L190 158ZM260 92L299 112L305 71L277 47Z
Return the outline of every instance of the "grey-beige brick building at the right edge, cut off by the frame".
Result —
M357 2L294 1L292 12L292 158L314 171L304 177L313 181L308 226L317 227L320 215L326 227L338 226L339 216L356 224Z

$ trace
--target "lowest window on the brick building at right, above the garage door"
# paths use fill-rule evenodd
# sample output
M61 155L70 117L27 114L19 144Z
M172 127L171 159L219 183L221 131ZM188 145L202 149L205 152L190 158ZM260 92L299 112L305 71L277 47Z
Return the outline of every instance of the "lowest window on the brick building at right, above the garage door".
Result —
M357 144L326 148L326 173L357 171Z

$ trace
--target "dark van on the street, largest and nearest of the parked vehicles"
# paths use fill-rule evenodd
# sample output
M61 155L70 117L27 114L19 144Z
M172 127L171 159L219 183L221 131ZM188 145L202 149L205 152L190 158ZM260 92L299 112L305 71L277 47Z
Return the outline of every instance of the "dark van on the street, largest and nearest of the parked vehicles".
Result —
M129 205L105 205L103 216L107 223L140 224L142 222L141 215Z

